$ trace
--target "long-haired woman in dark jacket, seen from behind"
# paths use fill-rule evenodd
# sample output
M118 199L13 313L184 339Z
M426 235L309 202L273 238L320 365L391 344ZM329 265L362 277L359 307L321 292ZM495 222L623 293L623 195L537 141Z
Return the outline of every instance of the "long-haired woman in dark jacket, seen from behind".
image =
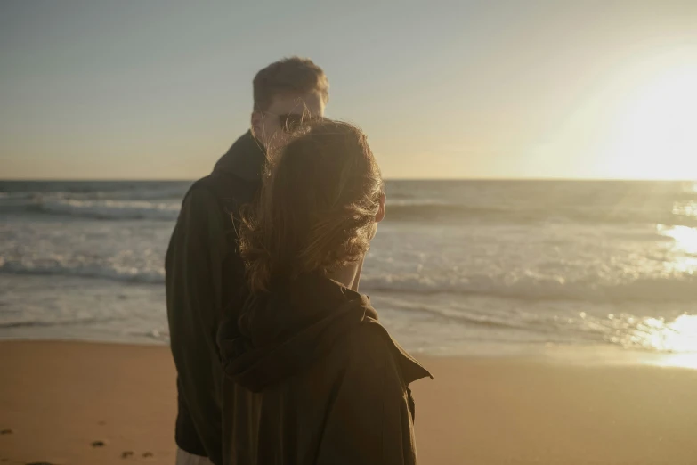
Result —
M235 383L229 463L416 463L408 386L430 374L357 292L384 217L384 183L356 127L314 122L272 159L239 228L252 294L219 334Z

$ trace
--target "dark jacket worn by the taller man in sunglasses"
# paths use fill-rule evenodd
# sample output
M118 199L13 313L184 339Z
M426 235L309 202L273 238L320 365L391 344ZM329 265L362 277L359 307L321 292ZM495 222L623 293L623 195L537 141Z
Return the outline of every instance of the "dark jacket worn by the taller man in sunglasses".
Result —
M265 155L251 133L241 136L211 175L182 202L166 255L167 317L177 369L176 444L221 465L226 398L215 335L223 314L245 300L244 264L233 216L255 199Z

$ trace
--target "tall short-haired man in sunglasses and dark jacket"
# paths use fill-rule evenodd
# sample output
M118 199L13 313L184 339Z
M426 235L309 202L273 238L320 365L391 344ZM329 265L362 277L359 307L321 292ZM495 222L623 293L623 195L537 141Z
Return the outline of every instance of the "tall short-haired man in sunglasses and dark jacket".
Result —
M272 63L254 79L251 129L193 184L166 255L167 317L177 370L177 463L223 465L223 371L215 336L246 296L233 216L255 199L266 152L304 117L320 118L328 79L311 60ZM207 458L207 459L206 459Z

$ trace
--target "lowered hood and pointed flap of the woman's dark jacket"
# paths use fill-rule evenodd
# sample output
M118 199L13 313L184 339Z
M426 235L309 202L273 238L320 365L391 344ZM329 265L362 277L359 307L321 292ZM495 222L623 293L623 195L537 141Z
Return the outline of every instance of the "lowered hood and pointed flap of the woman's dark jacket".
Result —
M223 370L239 385L259 392L327 355L337 340L361 324L381 331L400 363L405 382L431 374L390 338L369 298L339 282L305 275L279 290L247 300L247 335L238 322L223 322L218 346Z

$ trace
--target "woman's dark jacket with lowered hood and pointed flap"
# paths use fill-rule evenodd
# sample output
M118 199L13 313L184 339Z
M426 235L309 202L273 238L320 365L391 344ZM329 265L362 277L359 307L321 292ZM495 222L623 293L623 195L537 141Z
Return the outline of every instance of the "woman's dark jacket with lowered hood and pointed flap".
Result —
M430 376L368 298L319 275L247 301L218 334L235 465L415 464L409 383ZM240 336L244 334L244 336Z

